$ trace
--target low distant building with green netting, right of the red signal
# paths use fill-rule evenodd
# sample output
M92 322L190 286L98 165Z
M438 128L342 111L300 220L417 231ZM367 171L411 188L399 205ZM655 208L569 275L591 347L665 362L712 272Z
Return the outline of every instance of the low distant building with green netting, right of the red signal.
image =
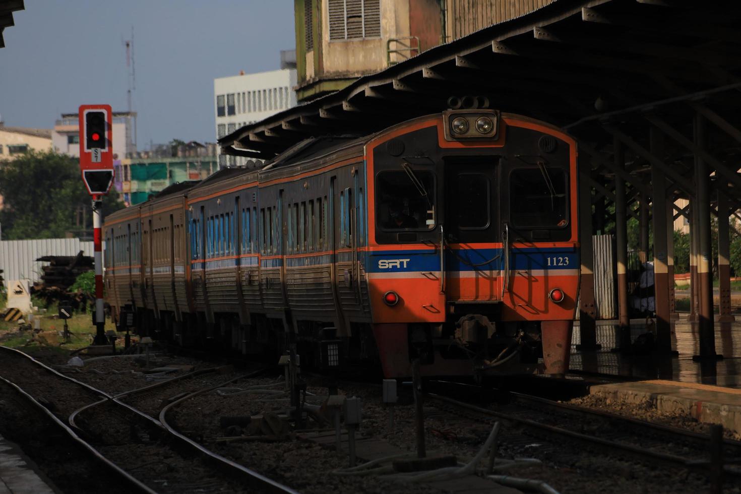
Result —
M113 187L127 206L178 182L203 180L218 170L216 144L190 141L179 146L162 144L133 158L114 162Z

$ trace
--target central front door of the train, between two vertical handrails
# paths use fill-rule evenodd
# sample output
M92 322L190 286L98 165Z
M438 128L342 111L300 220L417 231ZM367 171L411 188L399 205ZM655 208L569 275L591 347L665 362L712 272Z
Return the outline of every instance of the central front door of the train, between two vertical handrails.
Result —
M494 157L445 161L448 300L500 300L503 265Z

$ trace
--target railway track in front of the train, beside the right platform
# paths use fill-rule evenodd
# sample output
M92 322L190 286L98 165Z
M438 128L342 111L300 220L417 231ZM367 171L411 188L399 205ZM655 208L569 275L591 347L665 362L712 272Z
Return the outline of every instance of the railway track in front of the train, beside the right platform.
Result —
M470 388L469 393L478 388L462 386ZM451 420L461 417L464 420L512 424L527 436L550 444L546 447L578 445L602 455L609 453L631 461L639 459L646 464L708 473L708 435L521 393L505 395L509 398L508 403L496 409L437 393L428 393L431 399L427 403L443 415L451 415ZM725 439L723 450L726 458L741 458L740 441ZM741 469L737 466L725 465L724 475L741 481Z

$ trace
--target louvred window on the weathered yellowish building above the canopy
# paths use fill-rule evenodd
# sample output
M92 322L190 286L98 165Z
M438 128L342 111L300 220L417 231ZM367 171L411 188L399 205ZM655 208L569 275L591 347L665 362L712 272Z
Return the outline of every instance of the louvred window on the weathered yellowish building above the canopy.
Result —
M330 40L380 36L380 0L329 0Z

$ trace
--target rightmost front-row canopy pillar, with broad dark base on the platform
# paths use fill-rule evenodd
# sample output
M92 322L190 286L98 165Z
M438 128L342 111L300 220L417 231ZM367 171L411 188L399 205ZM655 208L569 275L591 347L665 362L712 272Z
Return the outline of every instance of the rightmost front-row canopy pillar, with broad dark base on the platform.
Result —
M695 145L705 147L705 119L700 113L694 116ZM695 156L695 187L697 187L697 293L700 305L697 310L700 355L694 359L722 358L715 353L715 324L713 314L713 271L710 221L710 172L705 161Z

